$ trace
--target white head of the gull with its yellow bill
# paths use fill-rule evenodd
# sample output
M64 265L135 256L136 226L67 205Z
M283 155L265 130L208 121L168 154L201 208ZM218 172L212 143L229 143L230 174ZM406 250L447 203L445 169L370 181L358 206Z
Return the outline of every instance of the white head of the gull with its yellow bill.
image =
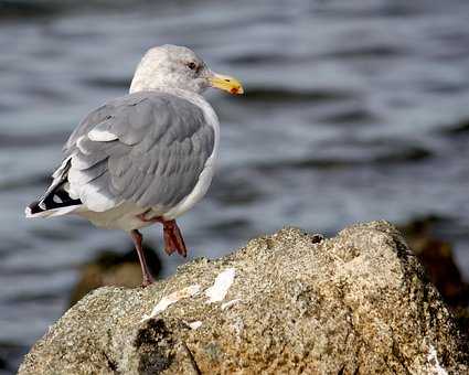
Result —
M180 88L201 94L209 87L243 94L237 79L212 72L190 49L166 44L147 51L134 75L130 93Z

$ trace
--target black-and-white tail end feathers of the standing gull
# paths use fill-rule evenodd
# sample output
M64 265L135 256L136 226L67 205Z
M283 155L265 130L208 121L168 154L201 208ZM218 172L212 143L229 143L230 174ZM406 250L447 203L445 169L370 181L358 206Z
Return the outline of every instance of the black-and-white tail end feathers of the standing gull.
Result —
M75 211L82 201L73 199L67 192L67 174L70 169L70 160L65 160L61 167L61 173L55 175L45 194L39 200L31 203L24 211L26 217L49 217L65 215Z

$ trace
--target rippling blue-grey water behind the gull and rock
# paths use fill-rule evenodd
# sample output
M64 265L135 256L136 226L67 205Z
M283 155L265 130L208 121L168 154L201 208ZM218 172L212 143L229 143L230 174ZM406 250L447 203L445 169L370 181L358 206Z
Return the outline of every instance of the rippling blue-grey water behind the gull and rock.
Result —
M438 215L468 278L469 1L0 0L0 357L10 369L62 314L78 266L130 246L81 219L26 221L24 205L78 120L125 94L143 51L163 43L194 49L247 94L209 95L221 169L180 219L191 257L287 224L332 234ZM160 231L145 229L148 243ZM164 261L168 275L183 260Z

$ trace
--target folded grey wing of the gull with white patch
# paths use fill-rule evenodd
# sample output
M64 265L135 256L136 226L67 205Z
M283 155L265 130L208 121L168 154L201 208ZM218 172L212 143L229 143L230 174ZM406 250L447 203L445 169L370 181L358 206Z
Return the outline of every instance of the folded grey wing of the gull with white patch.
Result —
M64 147L70 193L93 211L125 201L170 208L191 193L214 149L202 109L163 93L136 93L89 114Z

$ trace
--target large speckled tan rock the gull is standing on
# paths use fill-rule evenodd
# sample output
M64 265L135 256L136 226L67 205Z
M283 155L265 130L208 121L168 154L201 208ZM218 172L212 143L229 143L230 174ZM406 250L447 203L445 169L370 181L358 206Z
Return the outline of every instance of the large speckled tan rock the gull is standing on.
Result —
M146 289L95 290L20 374L469 374L467 342L393 226L316 239L285 228ZM233 285L207 303L204 290L226 268ZM201 291L145 319L191 285Z

